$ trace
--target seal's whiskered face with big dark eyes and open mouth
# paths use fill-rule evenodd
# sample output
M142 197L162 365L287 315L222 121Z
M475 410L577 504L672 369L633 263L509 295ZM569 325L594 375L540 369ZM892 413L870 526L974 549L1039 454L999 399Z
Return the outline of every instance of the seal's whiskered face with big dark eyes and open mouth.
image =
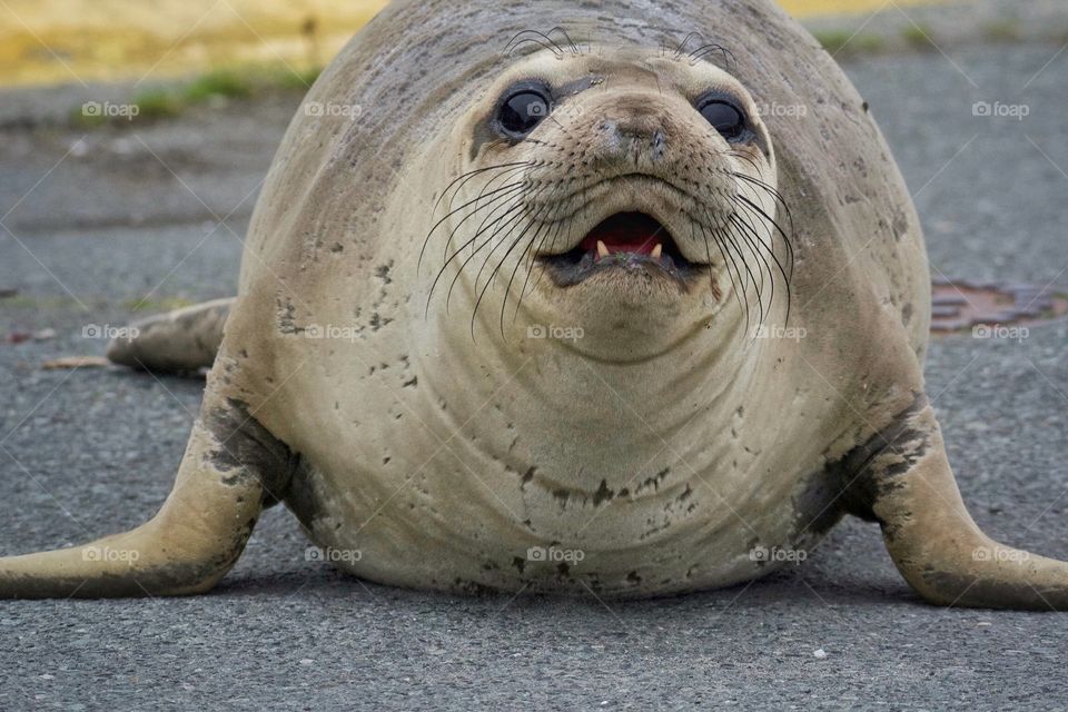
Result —
M671 343L729 293L748 307L750 289L784 277L771 137L745 88L708 61L541 51L456 130L461 178L438 227L476 305L507 285L502 329L511 298L587 336Z

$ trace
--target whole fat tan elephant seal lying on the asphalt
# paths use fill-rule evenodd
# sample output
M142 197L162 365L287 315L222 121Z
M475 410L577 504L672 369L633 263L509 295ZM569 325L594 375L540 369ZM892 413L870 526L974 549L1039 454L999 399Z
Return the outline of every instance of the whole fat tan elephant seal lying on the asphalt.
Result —
M930 602L1068 609L961 502L929 284L866 103L770 0L398 0L289 128L225 332L113 352L211 365L161 511L0 595L205 592L284 502L400 586L728 586L853 514Z

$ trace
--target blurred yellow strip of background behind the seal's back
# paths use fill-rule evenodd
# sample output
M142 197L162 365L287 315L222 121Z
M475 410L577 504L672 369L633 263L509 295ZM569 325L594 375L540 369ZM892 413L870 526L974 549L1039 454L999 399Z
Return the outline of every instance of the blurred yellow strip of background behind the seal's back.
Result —
M934 0L893 0L921 4ZM813 16L889 0L780 0ZM0 85L159 79L325 63L386 0L0 0Z

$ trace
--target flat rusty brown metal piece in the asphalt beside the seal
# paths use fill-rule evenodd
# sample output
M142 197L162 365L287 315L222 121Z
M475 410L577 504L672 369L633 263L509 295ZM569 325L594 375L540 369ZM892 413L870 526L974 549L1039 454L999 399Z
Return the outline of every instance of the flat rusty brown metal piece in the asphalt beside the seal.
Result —
M934 334L977 326L1039 326L1068 316L1068 287L939 279L931 316Z

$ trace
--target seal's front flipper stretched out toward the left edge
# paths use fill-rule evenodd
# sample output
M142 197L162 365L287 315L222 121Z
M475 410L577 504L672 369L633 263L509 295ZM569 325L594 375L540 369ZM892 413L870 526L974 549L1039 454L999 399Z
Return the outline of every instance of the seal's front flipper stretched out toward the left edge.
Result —
M130 532L0 558L0 597L187 595L230 570L265 506L288 484L289 451L209 383L174 490Z

